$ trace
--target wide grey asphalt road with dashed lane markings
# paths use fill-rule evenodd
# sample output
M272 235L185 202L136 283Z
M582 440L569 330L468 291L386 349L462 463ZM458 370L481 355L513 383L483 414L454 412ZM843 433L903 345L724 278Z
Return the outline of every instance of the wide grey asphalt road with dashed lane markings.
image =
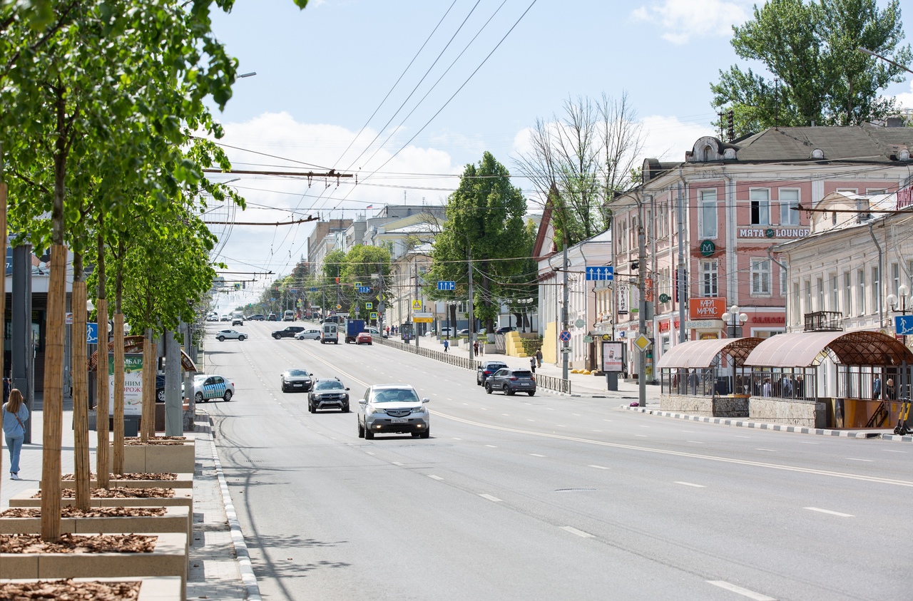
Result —
M264 598L913 597L908 444L487 395L467 370L280 326L207 341L236 385L206 409ZM339 376L352 413L280 392L291 367ZM430 440L357 438L381 382L431 399Z

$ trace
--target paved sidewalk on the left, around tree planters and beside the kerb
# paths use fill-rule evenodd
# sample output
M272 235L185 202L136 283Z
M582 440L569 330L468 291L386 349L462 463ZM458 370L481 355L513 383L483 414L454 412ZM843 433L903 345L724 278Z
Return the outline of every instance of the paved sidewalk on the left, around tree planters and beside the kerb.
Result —
M42 428L41 395L36 395L32 412L32 443L24 444L19 461L19 478L9 479L9 451L4 444L0 508L9 507L11 496L41 485ZM200 420L204 421L200 421ZM64 399L63 438L60 463L63 473L74 471L73 403ZM201 428L200 425L203 425ZM217 457L208 416L197 416L196 469L194 471L194 536L190 541L187 599L259 599L257 584L246 584L241 576L230 523L217 476ZM89 431L89 461L95 471L96 433ZM218 468L220 469L220 468ZM240 543L243 545L243 540ZM242 553L238 553L242 554ZM79 576L74 574L74 577Z

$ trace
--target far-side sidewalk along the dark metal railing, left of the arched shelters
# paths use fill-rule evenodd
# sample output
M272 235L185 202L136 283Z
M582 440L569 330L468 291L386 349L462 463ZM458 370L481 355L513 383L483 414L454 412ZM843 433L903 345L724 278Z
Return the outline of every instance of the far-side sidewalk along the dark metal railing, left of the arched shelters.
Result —
M410 343L414 344L414 343ZM442 340L438 340L433 336L423 336L419 340L419 347L429 348L431 350L436 350L444 352L444 343ZM458 357L469 357L469 349L460 348L456 345L453 345L447 349L448 354L456 355ZM509 355L500 355L496 353L488 353L485 355L476 355L477 361L503 361L509 368L529 368L530 367L530 357L511 357ZM543 363L541 368L536 368L537 374L543 374L545 376L551 376L552 378L561 378L561 364L549 364ZM627 401L635 401L638 398L638 387L635 382L624 382L619 378L618 381L618 390L609 391L608 386L605 383L605 376L592 376L586 374L572 374L570 369L568 370L568 379L571 380L571 396L572 397L593 397L593 398L606 398L606 399L619 399ZM555 393L557 394L557 393ZM646 385L646 404L647 407L650 406L659 406L659 387L647 384Z

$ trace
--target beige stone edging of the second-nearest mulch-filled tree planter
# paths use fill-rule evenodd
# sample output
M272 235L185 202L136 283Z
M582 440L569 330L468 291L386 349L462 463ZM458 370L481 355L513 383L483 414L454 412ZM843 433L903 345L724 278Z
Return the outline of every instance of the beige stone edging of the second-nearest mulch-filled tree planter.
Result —
M178 576L181 584L177 598L183 600L187 583L187 534L155 536L158 539L152 553L3 553L0 578L31 580L79 575L87 579L130 580L136 576Z

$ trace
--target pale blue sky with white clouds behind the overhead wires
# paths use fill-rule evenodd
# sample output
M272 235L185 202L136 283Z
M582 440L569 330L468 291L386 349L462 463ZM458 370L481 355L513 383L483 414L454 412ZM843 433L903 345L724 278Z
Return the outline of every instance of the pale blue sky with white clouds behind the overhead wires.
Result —
M360 181L309 187L240 176L230 185L249 206L237 220L354 217L370 214L369 205L445 202L456 176L485 150L516 171L525 130L560 113L569 96L626 93L644 123L642 158L681 160L699 136L713 133L709 83L740 62L729 46L731 26L750 18L753 4L311 0L299 11L291 0L236 0L230 14L214 18L239 72L257 72L239 79L225 111L216 111L222 142L244 149L227 149L236 169L336 169ZM905 16L909 43L913 12ZM887 93L913 107L909 80ZM310 229L214 226L230 270L277 275L306 253ZM232 295L222 305L243 301Z

